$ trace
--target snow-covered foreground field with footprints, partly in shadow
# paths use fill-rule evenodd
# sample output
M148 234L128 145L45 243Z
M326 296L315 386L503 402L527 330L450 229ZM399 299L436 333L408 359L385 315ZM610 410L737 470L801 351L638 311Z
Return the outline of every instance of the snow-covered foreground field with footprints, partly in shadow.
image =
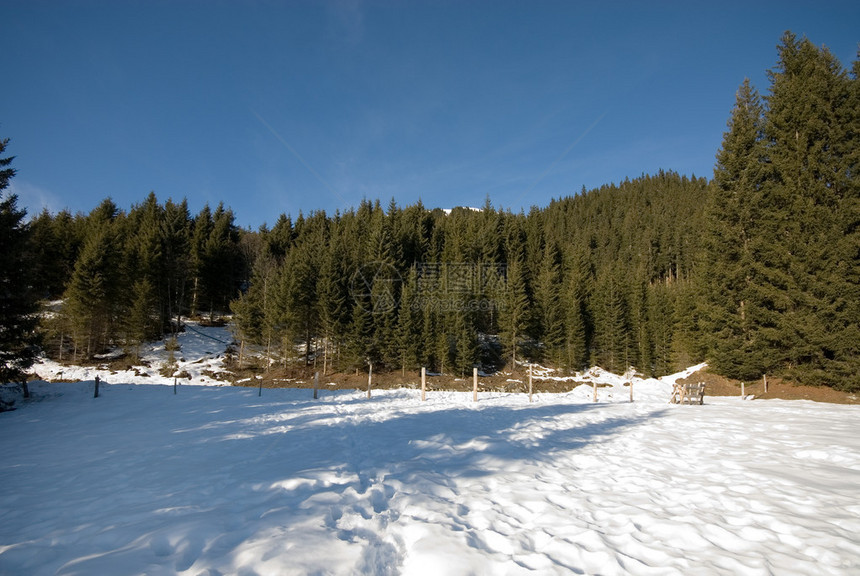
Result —
M104 378L0 414L0 574L860 573L856 406Z

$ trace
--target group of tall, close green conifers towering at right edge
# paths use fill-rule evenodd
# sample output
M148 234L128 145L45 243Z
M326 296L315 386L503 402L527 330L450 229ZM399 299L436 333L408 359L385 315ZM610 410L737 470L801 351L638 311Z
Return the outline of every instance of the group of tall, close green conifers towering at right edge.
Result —
M706 346L728 376L856 389L858 80L791 33L769 76L766 107L741 87L717 156L701 279Z

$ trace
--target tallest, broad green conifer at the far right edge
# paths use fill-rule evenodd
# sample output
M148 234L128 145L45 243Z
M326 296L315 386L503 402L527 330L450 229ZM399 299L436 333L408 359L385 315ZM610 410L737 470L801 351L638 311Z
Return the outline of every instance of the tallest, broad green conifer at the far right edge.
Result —
M839 250L851 232L844 215L858 178L851 80L826 48L791 33L782 38L770 78L765 140L773 173L765 205L777 215L784 206L790 215L773 226L782 303L773 363L802 382L839 385L839 374L853 372L857 350L845 344L858 318L844 300L857 293L846 278L856 256Z

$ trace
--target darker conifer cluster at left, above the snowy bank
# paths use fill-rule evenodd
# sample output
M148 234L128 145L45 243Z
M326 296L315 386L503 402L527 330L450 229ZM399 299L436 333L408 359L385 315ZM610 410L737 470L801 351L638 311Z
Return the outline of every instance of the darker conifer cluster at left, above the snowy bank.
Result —
M233 212L186 201L161 204L154 193L127 213L112 200L88 215L43 211L29 224L34 288L62 305L46 316L46 351L91 359L175 333L182 316L228 309L246 258Z

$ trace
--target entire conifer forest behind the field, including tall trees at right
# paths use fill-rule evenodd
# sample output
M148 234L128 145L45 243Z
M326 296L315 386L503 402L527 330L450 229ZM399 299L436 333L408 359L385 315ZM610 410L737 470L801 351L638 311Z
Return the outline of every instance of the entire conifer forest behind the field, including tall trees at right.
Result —
M860 64L786 33L745 81L713 180L660 171L513 213L363 201L241 230L154 194L24 226L52 354L134 351L231 313L270 367L464 374L707 360L860 389Z

